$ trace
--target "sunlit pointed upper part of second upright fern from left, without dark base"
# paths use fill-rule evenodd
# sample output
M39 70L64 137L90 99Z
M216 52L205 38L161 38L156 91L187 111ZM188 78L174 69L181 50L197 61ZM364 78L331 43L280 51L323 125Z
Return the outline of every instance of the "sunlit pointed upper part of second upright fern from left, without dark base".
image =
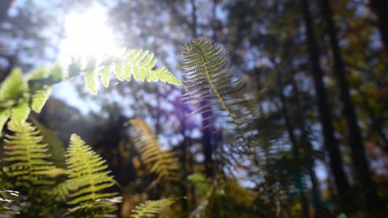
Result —
M68 204L87 204L100 198L116 196L117 193L100 193L100 190L114 185L113 176L106 171L107 165L89 145L76 134L70 137L70 145L66 154L68 169L72 171L69 182L76 187L76 191L69 195L73 197Z

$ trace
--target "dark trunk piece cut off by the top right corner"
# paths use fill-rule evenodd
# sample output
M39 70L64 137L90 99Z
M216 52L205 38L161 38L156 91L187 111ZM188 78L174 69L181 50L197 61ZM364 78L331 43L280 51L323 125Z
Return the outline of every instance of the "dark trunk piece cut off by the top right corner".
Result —
M381 40L388 52L388 2L387 0L370 0L369 6L378 17Z

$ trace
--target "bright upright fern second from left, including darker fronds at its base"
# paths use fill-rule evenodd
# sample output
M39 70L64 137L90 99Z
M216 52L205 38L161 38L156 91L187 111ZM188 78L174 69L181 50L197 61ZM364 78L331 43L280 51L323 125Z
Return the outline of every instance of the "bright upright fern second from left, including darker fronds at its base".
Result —
M114 197L118 193L100 192L114 185L113 176L108 175L111 171L105 170L107 165L104 165L105 161L102 160L102 157L92 151L91 147L76 134L70 137L66 156L68 157L66 160L68 168L73 172L69 175L68 183L76 190L69 194L69 197L73 199L67 203L78 205L69 209L69 214L76 217L87 217L87 215L90 216L91 211L94 213L93 216L115 211L117 206Z

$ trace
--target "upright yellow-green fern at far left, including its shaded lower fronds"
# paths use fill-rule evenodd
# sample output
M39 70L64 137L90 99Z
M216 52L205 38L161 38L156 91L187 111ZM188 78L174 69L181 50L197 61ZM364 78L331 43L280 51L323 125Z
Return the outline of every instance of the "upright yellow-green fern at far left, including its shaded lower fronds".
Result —
M48 145L42 144L42 136L39 130L29 122L21 126L13 120L8 122L9 130L14 135L6 135L4 141L7 146L3 158L10 164L3 167L3 185L10 189L20 190L27 198L19 199L15 204L24 216L42 216L48 212L50 206L55 204L51 189L55 179L60 175L68 175L70 172L63 168L57 168L52 162L47 161Z

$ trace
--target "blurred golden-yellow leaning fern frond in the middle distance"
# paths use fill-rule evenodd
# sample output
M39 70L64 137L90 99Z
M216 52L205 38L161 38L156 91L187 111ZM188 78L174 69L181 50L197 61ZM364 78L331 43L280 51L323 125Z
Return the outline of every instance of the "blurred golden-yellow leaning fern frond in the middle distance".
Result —
M135 140L138 142L140 157L145 164L152 164L150 171L158 175L157 181L162 178L179 181L179 175L176 172L179 166L173 151L170 148L161 150L159 141L144 120L135 118L130 122L135 129Z

